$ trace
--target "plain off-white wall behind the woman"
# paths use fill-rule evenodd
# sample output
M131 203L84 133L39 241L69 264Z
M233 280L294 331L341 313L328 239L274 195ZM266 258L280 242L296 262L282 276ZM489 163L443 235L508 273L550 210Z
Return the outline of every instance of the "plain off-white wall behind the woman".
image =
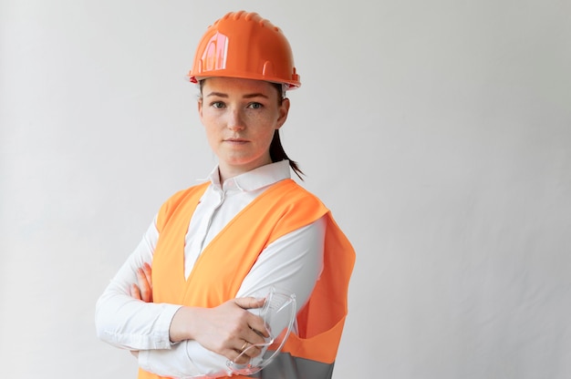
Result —
M184 76L257 11L357 250L335 378L571 377L571 3L1 0L0 376L134 378L95 302L215 159Z

